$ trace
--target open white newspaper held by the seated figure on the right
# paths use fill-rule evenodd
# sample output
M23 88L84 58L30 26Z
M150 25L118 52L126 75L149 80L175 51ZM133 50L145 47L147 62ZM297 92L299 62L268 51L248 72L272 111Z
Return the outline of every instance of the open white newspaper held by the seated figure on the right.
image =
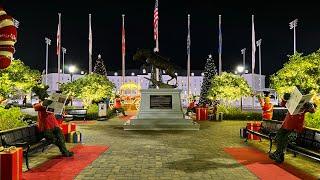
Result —
M313 94L302 95L297 87L290 94L290 99L286 103L286 107L291 115L299 114L303 111L303 105L311 100Z

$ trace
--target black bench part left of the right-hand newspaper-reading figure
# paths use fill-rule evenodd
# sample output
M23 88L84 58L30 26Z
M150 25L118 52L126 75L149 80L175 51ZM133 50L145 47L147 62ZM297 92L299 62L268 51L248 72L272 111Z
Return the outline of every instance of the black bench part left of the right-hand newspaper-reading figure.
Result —
M245 142L248 142L248 134L257 135L261 138L268 139L270 146L269 146L269 153L272 149L272 142L275 139L278 129L280 129L282 121L277 120L263 120L261 123L261 127L259 131L253 131L246 128L247 136Z

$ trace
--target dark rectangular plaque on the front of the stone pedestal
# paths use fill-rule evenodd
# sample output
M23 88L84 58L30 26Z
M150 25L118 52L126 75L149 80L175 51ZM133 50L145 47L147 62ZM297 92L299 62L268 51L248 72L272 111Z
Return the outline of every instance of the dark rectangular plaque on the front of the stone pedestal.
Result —
M172 96L150 95L150 109L172 109Z

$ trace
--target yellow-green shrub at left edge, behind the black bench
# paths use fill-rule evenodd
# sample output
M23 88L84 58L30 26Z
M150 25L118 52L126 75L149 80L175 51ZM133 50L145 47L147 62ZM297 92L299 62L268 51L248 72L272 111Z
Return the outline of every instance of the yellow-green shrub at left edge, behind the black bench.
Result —
M21 126L26 126L23 121L24 115L20 108L4 109L0 107L0 130L13 129Z

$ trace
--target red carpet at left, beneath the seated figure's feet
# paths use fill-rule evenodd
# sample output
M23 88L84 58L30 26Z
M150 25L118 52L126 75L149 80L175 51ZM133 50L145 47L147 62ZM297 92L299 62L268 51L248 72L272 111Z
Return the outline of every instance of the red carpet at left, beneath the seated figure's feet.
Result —
M105 152L107 146L83 146L77 145L72 148L73 157L57 156L42 165L32 168L23 173L25 180L71 180L74 179L84 168L96 160Z

